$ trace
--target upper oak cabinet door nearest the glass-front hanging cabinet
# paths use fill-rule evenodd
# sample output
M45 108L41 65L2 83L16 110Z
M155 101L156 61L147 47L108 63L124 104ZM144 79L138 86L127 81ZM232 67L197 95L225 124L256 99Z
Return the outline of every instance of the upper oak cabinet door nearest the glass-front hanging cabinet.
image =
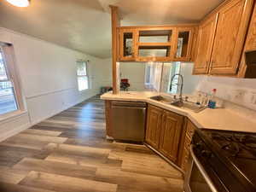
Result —
M197 49L195 50L194 74L207 74L209 70L212 45L216 31L218 14L201 23L198 29Z

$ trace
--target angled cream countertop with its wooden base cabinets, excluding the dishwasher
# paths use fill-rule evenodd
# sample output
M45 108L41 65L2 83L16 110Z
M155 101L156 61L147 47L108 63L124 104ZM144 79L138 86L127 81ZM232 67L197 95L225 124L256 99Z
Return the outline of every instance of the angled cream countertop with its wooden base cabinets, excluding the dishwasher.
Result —
M226 108L206 108L200 113L195 113L189 109L177 108L170 104L158 102L151 99L152 96L170 96L165 93L150 92L150 91L120 91L119 94L113 94L108 92L101 96L106 103L106 122L107 122L107 134L108 138L113 137L112 123L114 119L111 119L112 112L112 102L114 101L125 101L125 102L146 102L148 103L148 113L147 113L147 122L146 125L146 137L144 142L148 147L153 148L154 151L158 152L160 155L166 157L166 160L174 163L185 171L185 165L188 160L189 155L189 143L191 142L191 137L195 129L213 129L213 130L226 130L226 131L247 131L254 132L256 130L256 114L249 109L238 107L234 104L226 105ZM193 99L193 96L190 96ZM171 148L170 153L173 153L173 148L171 145L175 145L177 148L175 154L170 155L168 152L161 153L159 151L160 137L149 137L147 131L152 131L154 129L154 134L161 129L163 125L154 124L154 121L160 121L162 119L162 114L159 116L154 116L155 110L165 111L166 114L169 114L172 120L168 121L168 126L165 131L165 134L169 132L179 131L178 138L176 138L176 143L168 143L167 148ZM152 114L153 116L152 116ZM180 120L181 123L177 125L177 121ZM152 119L150 119L152 118ZM154 126L155 127L152 127ZM245 130L246 128L246 130ZM148 137L147 137L148 136ZM172 141L171 137L168 137L166 141ZM187 148L187 149L186 149Z

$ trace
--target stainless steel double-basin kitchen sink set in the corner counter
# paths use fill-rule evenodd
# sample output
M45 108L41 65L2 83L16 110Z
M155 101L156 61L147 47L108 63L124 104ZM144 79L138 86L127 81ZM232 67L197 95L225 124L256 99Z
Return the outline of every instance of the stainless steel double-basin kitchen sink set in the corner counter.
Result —
M175 99L172 96L152 96L150 97L150 99L153 99L154 101L170 104L177 108L189 109L195 113L199 113L205 108L207 108L206 106L197 105L195 102L180 101L179 99Z

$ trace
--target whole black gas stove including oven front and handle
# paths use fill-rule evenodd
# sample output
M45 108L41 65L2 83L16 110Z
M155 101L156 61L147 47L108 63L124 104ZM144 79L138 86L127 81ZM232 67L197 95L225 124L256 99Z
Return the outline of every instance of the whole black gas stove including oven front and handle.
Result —
M200 182L192 177L195 175L192 166L189 192L256 192L256 133L196 130L190 152L194 154L194 161L199 162L196 164L201 166L199 170L205 172L202 175L207 175L208 183L213 187L198 189Z

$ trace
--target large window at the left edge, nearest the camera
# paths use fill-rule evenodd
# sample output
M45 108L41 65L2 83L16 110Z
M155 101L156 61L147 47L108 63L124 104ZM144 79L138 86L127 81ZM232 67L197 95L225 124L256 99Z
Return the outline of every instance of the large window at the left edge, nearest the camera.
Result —
M0 115L20 109L18 81L15 79L12 46L0 44Z

